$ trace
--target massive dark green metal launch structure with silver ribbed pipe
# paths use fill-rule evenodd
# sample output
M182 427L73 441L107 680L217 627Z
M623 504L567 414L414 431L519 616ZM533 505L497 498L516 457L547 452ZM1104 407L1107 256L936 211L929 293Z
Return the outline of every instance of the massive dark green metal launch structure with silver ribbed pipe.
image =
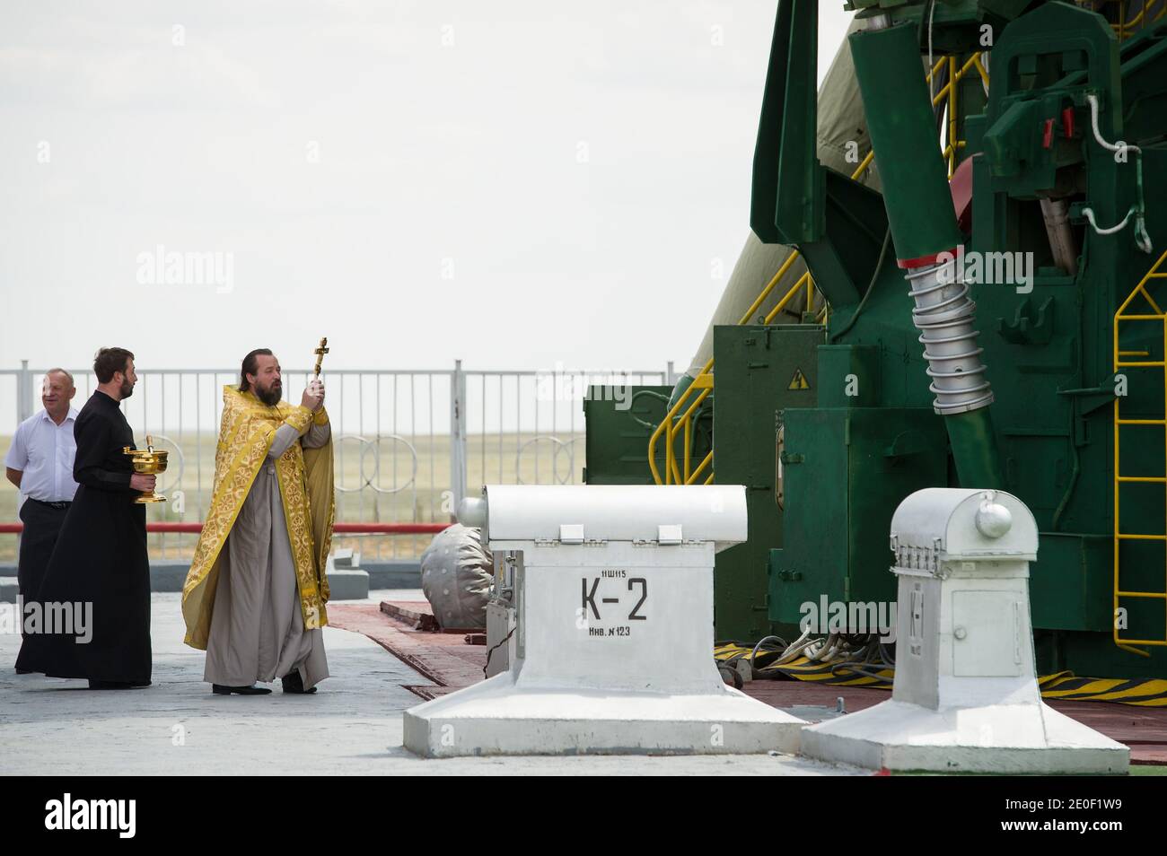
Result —
M718 557L717 632L797 632L824 596L894 599L899 503L999 487L1041 528L1040 668L1167 676L1167 19L848 8L882 192L819 163L818 6L780 0L750 227L797 247L830 313L715 329L701 412L715 480L745 484L750 514ZM593 473L594 447L651 433L621 425L589 418L588 480L650 480L643 452Z

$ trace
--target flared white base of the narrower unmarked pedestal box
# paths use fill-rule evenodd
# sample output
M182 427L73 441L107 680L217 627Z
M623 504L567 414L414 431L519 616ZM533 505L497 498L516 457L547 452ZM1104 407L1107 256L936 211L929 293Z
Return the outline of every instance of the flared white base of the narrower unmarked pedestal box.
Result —
M1131 751L1044 703L930 710L901 701L811 725L802 755L874 770L1126 773Z

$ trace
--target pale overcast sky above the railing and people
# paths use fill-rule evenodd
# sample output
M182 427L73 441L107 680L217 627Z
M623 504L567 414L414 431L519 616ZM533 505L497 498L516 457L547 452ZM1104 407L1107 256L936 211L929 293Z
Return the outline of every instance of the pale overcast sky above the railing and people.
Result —
M327 335L333 367L680 370L748 229L774 13L7 2L0 369L303 366Z

